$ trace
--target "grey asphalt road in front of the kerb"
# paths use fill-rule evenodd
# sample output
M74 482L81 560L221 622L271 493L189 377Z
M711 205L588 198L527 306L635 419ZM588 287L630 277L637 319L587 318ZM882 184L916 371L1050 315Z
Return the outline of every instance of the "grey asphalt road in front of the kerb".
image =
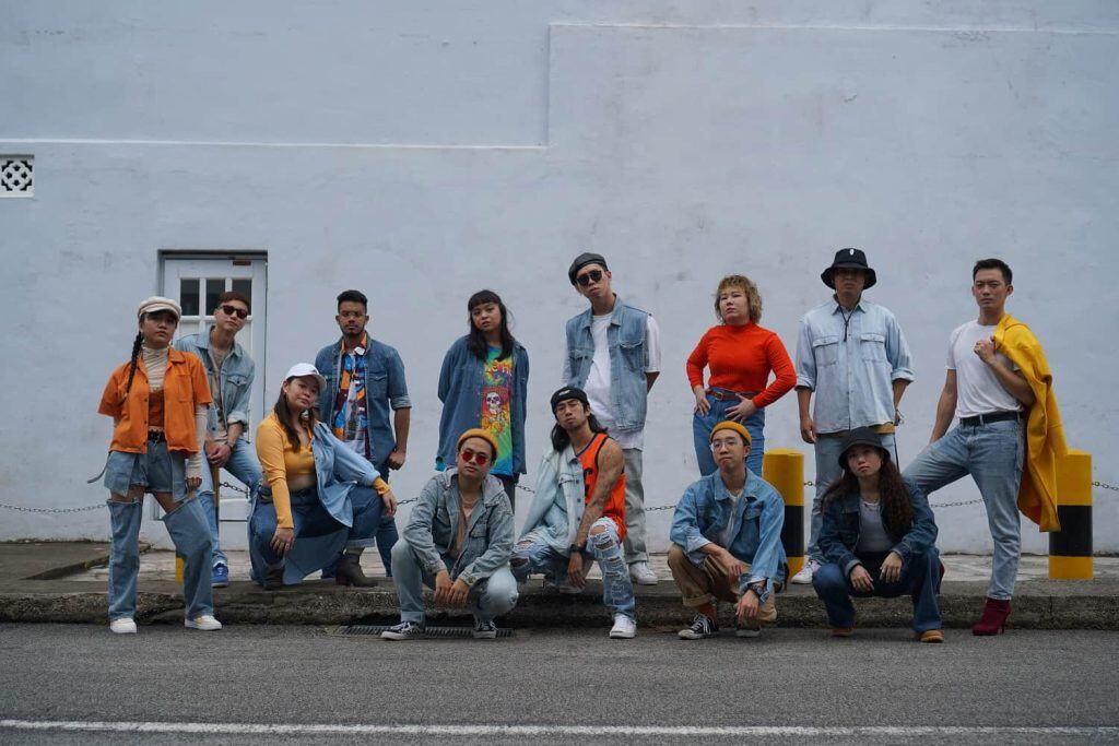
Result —
M1113 632L388 643L321 627L0 625L0 661L6 744L1119 742Z

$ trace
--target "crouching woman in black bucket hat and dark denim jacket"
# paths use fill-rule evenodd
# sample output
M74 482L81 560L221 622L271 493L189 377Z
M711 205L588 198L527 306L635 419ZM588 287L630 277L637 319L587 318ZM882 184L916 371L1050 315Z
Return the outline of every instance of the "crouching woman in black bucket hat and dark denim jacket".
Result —
M816 595L827 607L831 634L852 635L852 596L908 593L913 598L916 639L943 642L937 605L937 523L924 493L903 480L869 427L850 432L839 466L843 475L824 495L820 553L826 564L812 575Z

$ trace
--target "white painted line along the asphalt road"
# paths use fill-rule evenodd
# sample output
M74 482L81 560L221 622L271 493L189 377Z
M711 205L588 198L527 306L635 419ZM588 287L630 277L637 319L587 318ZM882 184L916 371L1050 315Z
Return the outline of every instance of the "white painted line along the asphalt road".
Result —
M1110 726L642 726L642 725L374 725L269 723L132 723L126 720L0 719L0 728L109 733L163 733L236 736L724 736L724 737L915 737L1079 736L1119 737Z

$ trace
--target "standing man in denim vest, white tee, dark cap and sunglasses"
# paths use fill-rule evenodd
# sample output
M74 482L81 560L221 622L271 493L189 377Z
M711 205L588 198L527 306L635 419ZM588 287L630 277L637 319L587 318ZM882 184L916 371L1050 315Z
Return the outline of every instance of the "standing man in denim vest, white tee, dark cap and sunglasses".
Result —
M626 563L640 585L656 585L645 537L641 448L648 395L660 375L660 328L652 315L627 305L611 289L601 254L580 254L567 278L591 308L568 319L563 383L582 389L591 412L626 457Z

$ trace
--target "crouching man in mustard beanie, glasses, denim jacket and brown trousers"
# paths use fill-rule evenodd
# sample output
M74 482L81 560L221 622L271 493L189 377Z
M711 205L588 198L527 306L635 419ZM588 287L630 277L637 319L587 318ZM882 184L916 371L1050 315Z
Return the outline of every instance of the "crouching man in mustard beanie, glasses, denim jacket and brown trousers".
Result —
M736 635L756 638L777 621L773 594L784 584L788 564L781 546L784 501L771 484L746 469L750 433L724 421L711 432L718 471L684 492L669 538L668 567L695 610L684 640L718 634L715 601L735 604Z

